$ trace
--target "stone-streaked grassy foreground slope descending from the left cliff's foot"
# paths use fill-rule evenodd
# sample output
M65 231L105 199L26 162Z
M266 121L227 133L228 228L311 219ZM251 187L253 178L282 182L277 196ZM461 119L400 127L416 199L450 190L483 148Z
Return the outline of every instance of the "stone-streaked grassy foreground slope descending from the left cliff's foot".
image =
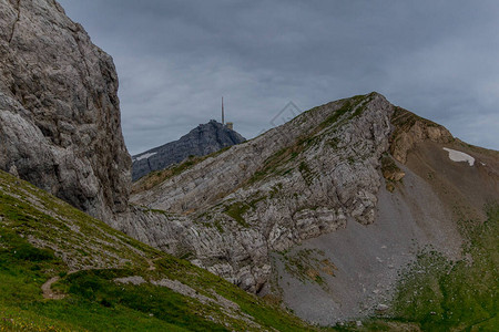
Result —
M52 289L65 298L43 299L41 286L54 276L61 280ZM151 283L113 281L129 276L179 280L207 298L217 293L240 310ZM225 280L128 238L2 172L0 280L0 331L312 330Z

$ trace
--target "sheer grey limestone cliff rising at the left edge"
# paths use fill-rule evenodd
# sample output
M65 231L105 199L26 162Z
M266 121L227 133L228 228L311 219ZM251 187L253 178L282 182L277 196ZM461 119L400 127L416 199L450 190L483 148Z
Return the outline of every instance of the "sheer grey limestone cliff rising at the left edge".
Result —
M102 219L126 209L111 56L53 0L0 0L0 168Z

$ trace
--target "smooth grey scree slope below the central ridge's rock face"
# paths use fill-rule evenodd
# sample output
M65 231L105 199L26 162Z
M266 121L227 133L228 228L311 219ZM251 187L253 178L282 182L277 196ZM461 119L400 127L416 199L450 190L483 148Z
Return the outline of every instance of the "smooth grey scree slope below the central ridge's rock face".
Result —
M406 173L405 186L394 193L380 187L373 225L363 227L350 220L344 229L274 255L274 280L298 317L334 325L338 320L374 315L377 308L390 304L398 273L416 259L418 249L431 246L450 257L459 256L461 239L447 206L424 179L400 167ZM307 268L297 271L294 261ZM324 269L324 261L333 267L330 271ZM301 280L299 272L310 276Z

